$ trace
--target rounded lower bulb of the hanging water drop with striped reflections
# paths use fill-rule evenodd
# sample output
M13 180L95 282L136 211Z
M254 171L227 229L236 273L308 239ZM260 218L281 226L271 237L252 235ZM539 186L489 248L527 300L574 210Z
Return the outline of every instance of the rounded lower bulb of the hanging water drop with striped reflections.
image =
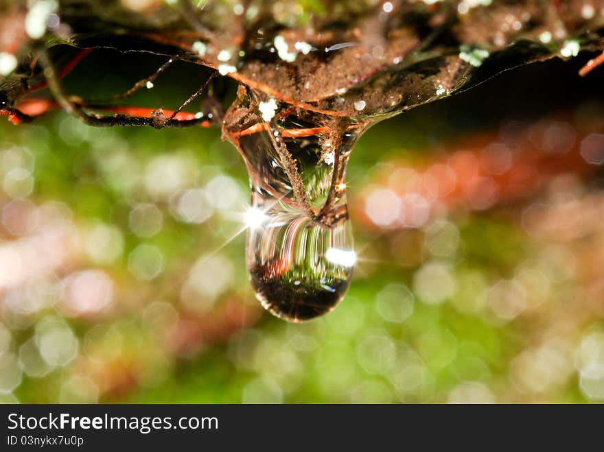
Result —
M329 230L294 213L272 216L266 229L248 232L246 258L256 297L286 320L331 311L348 289L354 259L330 261L330 250L353 254L351 242L348 222Z

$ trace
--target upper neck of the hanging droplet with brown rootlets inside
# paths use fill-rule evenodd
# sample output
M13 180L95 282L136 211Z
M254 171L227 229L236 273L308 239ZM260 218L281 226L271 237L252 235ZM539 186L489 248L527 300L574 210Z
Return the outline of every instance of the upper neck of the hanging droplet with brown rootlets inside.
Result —
M325 228L345 221L346 167L354 143L369 123L291 106L277 109L264 121L267 118L256 111L263 104L260 98L258 93L240 88L223 129L223 138L244 158L252 189L296 206ZM259 161L264 158L261 148L271 150L270 164L278 169L266 171ZM316 165L327 170L321 180L309 174Z

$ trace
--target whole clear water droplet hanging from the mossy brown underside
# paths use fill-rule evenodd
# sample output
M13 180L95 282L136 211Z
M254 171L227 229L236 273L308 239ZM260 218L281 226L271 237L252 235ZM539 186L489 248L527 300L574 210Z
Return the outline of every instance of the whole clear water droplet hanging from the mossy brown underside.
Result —
M310 320L334 309L350 283L356 254L344 180L364 126L287 105L265 122L260 99L240 88L225 122L250 176L250 281L275 316Z

